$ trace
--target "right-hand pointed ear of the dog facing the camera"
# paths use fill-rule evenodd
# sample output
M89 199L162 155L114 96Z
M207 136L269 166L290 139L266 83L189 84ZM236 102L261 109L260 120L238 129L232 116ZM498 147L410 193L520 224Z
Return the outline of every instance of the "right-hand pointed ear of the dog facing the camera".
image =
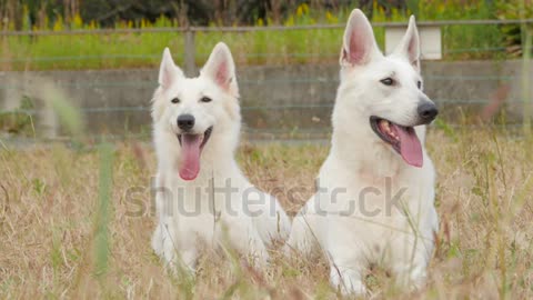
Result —
M230 48L223 42L217 43L202 68L201 74L211 78L222 90L239 97L235 78L235 63Z

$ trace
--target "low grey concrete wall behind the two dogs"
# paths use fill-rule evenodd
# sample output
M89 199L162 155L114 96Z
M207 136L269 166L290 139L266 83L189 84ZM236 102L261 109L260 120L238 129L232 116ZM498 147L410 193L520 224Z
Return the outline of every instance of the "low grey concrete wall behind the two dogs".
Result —
M446 120L456 118L457 108L477 113L504 84L510 86L507 118L522 116L521 61L426 61L423 73L425 91L441 106ZM148 132L157 76L157 69L0 72L0 108L18 107L22 96L39 101L39 82L44 79L83 109L90 132ZM262 134L328 130L338 64L238 67L238 80L243 119L252 134L257 130Z

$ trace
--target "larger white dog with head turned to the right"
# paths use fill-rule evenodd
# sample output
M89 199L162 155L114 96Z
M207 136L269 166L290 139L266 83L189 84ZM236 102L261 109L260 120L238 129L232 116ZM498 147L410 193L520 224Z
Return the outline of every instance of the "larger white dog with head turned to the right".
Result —
M414 18L385 57L366 17L353 10L340 63L331 151L318 192L293 220L288 251L318 243L344 293L366 292L371 264L388 268L401 287L420 287L438 230L435 171L423 148L424 124L438 110L422 91Z

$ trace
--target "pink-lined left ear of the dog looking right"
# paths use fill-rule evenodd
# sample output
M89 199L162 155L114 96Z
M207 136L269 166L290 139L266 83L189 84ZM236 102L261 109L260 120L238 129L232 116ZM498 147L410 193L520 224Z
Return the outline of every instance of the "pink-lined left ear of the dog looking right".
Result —
M372 26L361 10L354 9L344 30L340 63L363 66L376 54L381 52L375 43Z

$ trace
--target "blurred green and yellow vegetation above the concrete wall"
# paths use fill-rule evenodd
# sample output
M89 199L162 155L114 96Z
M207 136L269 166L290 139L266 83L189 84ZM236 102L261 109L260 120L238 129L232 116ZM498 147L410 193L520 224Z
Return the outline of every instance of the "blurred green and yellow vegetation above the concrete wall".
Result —
M180 32L31 34L38 31L340 24L353 8L373 22L405 21L410 14L419 21L533 19L533 0L0 0L0 70L151 68L164 47L183 62ZM12 31L28 34L7 33ZM507 59L523 52L520 24L444 26L442 32L446 60ZM333 62L341 34L341 28L200 32L195 59L203 61L224 40L240 64ZM375 34L383 46L383 29Z

